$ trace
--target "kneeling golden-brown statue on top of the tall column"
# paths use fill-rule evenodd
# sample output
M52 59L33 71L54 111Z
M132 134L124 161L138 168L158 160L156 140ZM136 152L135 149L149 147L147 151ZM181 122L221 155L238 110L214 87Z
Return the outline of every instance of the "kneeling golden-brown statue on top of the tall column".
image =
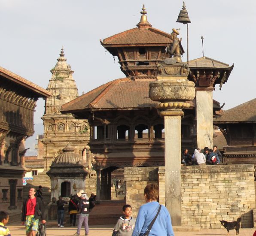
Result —
M174 28L172 29L170 38L171 40L173 40L173 43L168 44L166 47L167 53L170 54L172 58L166 58L165 59L166 64L174 64L176 62L181 62L181 54L180 54L181 39L177 38L177 36L180 34L178 30L180 29L177 29L177 30L175 30Z

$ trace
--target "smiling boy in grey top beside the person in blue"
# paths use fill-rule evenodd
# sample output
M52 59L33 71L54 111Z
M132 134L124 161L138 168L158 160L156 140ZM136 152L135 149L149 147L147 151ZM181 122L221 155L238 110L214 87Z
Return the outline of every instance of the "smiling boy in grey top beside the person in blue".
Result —
M130 205L123 206L123 214L120 219L118 219L116 226L113 229L112 236L131 236L134 226L135 218L131 216L132 209Z

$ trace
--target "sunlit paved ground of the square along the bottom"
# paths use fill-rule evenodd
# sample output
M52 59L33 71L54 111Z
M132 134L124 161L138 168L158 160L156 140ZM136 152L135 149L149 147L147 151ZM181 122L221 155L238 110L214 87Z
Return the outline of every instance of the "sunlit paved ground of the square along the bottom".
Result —
M12 236L24 236L25 229L23 226L18 224L9 225L9 230L11 231ZM113 225L97 225L90 227L90 236L112 236ZM239 236L253 236L255 229L240 229ZM55 225L50 225L47 228L47 236L71 236L73 233L76 233L76 227L64 227L58 228ZM227 235L226 229L207 229L195 232L174 232L175 236L219 236ZM84 230L81 230L81 235L84 235ZM235 235L235 230L230 231L230 235ZM161 235L159 235L161 236Z

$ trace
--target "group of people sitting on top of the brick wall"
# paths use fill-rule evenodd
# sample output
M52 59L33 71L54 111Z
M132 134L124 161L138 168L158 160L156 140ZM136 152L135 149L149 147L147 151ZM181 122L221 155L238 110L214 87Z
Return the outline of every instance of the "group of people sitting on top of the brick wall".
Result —
M222 154L216 145L213 149L205 147L203 153L200 148L196 148L193 155L189 154L188 149L184 149L181 154L181 164L184 166L218 165L220 163L222 163Z

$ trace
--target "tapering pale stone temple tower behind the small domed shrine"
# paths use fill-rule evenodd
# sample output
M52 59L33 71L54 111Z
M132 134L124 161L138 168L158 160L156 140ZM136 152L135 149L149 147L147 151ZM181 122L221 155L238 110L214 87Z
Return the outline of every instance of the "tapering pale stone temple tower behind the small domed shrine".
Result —
M46 99L45 113L42 117L44 135L41 141L43 142L44 171L34 176L33 180L34 186L48 187L49 192L50 178L46 172L55 157L62 153L62 149L67 145L70 145L78 154L82 164L88 166L90 130L87 120L78 120L72 114L61 114L60 112L63 104L78 97L73 72L64 57L63 48L61 48L60 57L51 70L52 77L46 89L52 96Z

